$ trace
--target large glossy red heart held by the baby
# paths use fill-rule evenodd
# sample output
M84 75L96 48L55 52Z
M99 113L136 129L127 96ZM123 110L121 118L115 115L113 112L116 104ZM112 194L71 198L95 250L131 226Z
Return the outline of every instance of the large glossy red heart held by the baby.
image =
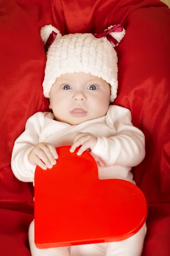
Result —
M98 179L87 151L56 148L57 164L35 171L35 244L38 248L120 241L147 218L141 190L126 180Z

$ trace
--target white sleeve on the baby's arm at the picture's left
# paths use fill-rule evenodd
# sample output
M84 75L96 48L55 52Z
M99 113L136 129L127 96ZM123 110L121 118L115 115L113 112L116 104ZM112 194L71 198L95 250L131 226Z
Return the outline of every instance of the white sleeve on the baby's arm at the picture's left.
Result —
M39 143L47 112L37 112L26 122L25 131L17 138L12 151L12 171L18 180L34 182L36 166L28 161L29 152Z

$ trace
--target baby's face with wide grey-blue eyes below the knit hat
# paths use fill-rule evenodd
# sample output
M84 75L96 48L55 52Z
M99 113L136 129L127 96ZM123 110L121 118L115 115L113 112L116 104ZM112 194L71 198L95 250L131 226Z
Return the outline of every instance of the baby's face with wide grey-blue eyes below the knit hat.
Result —
M55 119L70 125L104 116L110 103L110 85L85 73L59 77L50 91L50 108Z

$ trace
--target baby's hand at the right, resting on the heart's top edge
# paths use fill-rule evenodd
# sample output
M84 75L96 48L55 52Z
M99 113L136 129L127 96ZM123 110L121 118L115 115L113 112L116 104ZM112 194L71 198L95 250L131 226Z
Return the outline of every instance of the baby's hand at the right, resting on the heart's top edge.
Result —
M97 141L97 137L95 137L93 134L76 132L74 142L72 144L72 147L70 148L70 152L74 152L76 148L81 146L81 148L77 152L77 155L80 156L87 149L90 149L90 151L92 151L97 144Z

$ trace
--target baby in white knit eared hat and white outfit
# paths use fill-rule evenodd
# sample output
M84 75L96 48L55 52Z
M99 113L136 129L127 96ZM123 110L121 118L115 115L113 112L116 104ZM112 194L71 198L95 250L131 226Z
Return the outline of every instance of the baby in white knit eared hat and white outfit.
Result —
M95 158L99 179L118 178L134 183L130 172L145 155L144 134L131 122L128 109L110 105L117 95L117 55L114 47L124 37L121 25L104 33L62 36L51 25L41 29L48 48L44 96L51 112L38 112L26 122L15 141L12 170L21 181L34 182L36 165L57 164L56 147L80 146ZM146 224L129 239L102 244L38 249L34 221L29 228L32 256L140 256Z

